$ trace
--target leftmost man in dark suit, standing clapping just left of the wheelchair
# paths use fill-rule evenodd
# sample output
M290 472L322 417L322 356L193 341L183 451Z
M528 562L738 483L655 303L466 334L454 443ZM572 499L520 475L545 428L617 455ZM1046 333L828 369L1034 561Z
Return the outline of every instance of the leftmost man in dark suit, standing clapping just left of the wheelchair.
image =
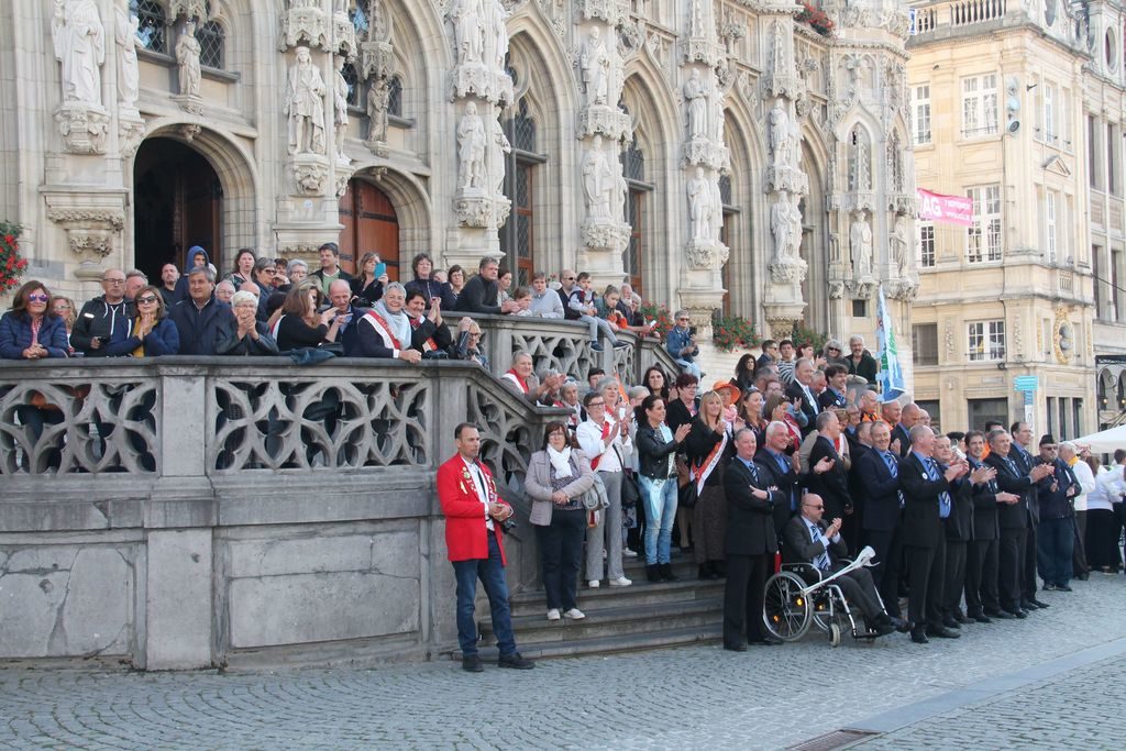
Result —
M747 643L780 642L763 631L762 598L767 572L778 552L774 507L786 503L777 486L767 485L768 472L754 463L754 431L735 432L735 457L723 473L727 499L727 581L723 589L723 649L747 651ZM747 643L743 628L747 628Z

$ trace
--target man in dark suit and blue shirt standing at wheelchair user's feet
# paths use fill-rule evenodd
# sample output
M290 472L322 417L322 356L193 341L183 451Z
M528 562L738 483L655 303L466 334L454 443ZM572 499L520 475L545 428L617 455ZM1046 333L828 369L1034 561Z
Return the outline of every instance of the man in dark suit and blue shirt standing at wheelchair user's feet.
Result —
M911 592L908 619L912 622L911 641L926 644L928 636L957 638L942 625L942 576L946 571L946 539L942 520L950 516L950 495L955 480L968 470L958 462L945 471L932 454L935 432L927 426L911 429L911 452L900 462L900 489L903 491L903 549ZM926 624L926 625L924 625Z

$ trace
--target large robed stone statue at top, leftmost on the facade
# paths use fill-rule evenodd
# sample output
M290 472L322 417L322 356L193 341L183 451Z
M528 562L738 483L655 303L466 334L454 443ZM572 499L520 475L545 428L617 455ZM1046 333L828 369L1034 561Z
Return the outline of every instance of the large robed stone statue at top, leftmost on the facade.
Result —
M101 107L106 29L93 0L55 0L51 19L55 59L62 63L63 102Z

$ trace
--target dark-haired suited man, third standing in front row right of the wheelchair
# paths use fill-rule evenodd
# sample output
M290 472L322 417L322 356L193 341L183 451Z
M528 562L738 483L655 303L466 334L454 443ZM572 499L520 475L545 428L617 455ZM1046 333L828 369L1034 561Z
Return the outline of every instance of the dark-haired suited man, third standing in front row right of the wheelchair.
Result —
M974 504L973 540L966 547L966 616L977 623L992 623L992 618L1011 618L1001 609L998 598L998 531L997 510L1002 503L1020 500L997 484L997 470L984 464L985 435L980 430L966 433L966 462L982 481L974 483L971 500Z

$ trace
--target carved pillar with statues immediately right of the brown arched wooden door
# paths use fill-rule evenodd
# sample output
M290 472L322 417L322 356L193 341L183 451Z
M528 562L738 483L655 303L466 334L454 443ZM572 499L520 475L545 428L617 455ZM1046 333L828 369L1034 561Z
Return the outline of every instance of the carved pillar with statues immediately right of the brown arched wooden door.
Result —
M456 116L446 147L455 154L457 180L445 262L475 269L484 256L499 257L498 230L508 220L504 162L512 147L500 114L512 101L504 70L509 11L501 0L453 0L447 19L454 41L450 73Z

